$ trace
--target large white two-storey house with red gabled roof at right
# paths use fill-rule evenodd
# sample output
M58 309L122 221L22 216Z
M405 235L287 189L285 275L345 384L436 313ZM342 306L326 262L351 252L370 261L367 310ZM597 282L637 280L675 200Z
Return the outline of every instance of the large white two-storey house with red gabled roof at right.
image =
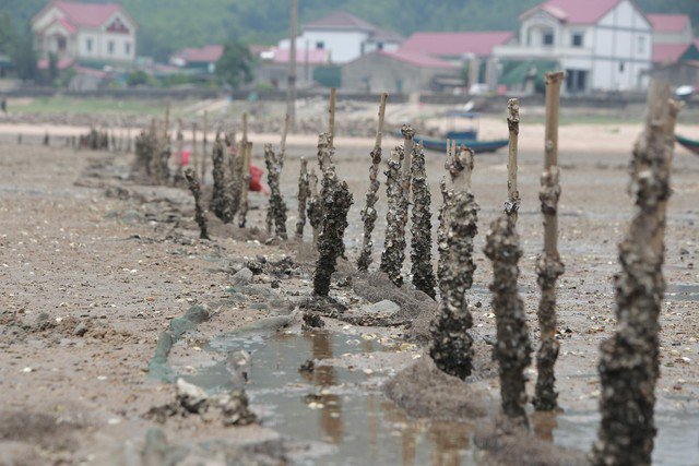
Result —
M498 60L554 60L566 93L640 89L653 50L650 21L630 0L548 0L520 16L519 43Z

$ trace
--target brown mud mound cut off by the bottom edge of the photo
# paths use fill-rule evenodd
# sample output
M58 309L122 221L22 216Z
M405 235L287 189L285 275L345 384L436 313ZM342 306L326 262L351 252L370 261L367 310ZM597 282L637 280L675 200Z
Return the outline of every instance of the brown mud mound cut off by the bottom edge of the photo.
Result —
M476 432L474 444L479 450L478 464L499 466L512 464L512 458L517 458L520 466L589 464L583 452L556 446L526 430L506 429L505 422L500 418L496 426L483 427Z

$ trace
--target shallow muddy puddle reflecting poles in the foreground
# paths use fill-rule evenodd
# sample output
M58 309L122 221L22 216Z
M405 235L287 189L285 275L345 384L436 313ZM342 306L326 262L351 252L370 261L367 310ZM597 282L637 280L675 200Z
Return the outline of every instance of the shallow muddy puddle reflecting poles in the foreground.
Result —
M356 360L352 355L378 357L381 351L396 350L392 342L371 338L324 331L233 334L214 338L206 349L251 353L246 391L253 410L264 426L282 434L330 445L322 464L475 464L471 450L475 426L408 419L381 393L380 383L390 370L352 366ZM316 360L315 371L299 372L308 359ZM328 359L342 361L342 367L319 362ZM209 391L230 386L225 360L182 377ZM599 421L594 411L532 416L537 437L582 451L595 440ZM661 413L656 425L654 464L697 464L699 415Z

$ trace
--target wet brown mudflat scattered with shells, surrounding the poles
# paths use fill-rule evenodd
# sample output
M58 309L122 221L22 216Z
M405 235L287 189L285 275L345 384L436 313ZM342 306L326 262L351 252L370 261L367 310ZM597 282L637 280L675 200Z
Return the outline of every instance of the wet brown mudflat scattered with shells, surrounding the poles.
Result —
M584 453L596 437L599 345L614 330L616 244L631 212L625 192L630 155L621 156L618 150L566 153L565 142L560 145L559 250L566 274L558 288L561 348L556 378L562 413L534 415L528 407L532 431L544 446L537 445L547 457L549 442ZM335 155L337 171L358 200L368 187L368 151L339 147ZM312 160L315 153L312 146L287 150L281 179L289 212L287 228L296 222L299 157ZM518 231L524 253L519 289L530 336L536 340L541 155L521 155ZM439 200L443 163L437 154L426 156L431 198ZM425 363L424 337L436 304L417 291L384 292L370 278L353 276L350 263L356 262L362 246L360 205L350 211L345 236L350 262L339 262L330 297L354 311L390 299L400 311L391 314L395 320L388 326L322 318L323 328L303 330L297 308L310 296L316 258L307 246L268 240L260 232L266 198L250 194L250 229L223 225L209 215L212 240L200 240L190 193L128 181L130 163L106 153L0 145L0 457L4 464L167 464L166 458L171 464L176 458L220 462L213 464L497 464L486 446L498 444L483 443L473 419L430 419L443 406L416 410L405 397L401 402L387 395L387 382L415 370L416 362ZM501 211L506 163L505 153L476 157L473 191L482 207L479 231L486 231ZM254 153L253 164L262 164L261 152ZM699 457L698 175L699 158L676 157L653 453L654 463L662 465L696 464ZM211 181L204 184L204 196ZM378 266L383 247L383 189L376 208L370 271ZM436 223L435 215L435 229ZM310 237L307 228L307 243ZM483 235L475 238L477 267L467 292L475 375L460 383L483 395L476 408L485 410L482 419L491 425L499 385L490 359L495 316L484 242ZM234 275L246 266L252 276L248 283L235 283ZM408 271L405 263L403 274ZM363 279L375 287L362 287ZM173 321L194 304L205 306L208 319L196 328L180 328L187 332L164 355L163 366L214 393L233 383L227 355L249 351L245 390L256 423L223 427L199 416L161 423L145 416L174 399L174 385L151 377L151 362L162 333L173 331ZM406 315L415 319L410 328L399 322ZM299 372L309 359L313 370ZM536 374L531 367L525 374L531 396ZM391 382L394 387L396 381L400 377ZM445 399L453 403L453 397ZM8 428L17 425L22 430Z

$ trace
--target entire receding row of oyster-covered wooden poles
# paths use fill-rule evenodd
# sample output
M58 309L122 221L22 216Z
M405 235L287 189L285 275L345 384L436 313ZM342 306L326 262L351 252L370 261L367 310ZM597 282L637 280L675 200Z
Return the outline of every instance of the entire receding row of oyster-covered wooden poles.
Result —
M558 109L562 79L562 72L546 76L544 169L540 190L544 241L536 262L537 284L541 288L537 309L541 340L536 351L537 380L532 399L534 408L540 411L558 409L554 368L559 353L556 339L556 284L565 271L558 252L558 200L561 193ZM334 164L335 96L335 91L332 89L328 132L321 133L318 139L317 168L320 175L316 175L316 169L309 170L308 160L301 158L298 220L295 229L297 239L303 240L307 219L312 227L313 243L318 251L313 299L321 301L330 299L331 276L337 258L346 256L344 232L347 213L353 204L352 193L346 182L339 178ZM387 94L381 96L376 142L370 152L369 188L362 210L364 237L357 259L359 272L368 272L371 264L387 98ZM623 271L615 278L618 327L603 343L599 366L602 381L602 423L599 440L590 454L591 463L597 465L650 464L655 434L654 386L659 377L657 320L664 291L661 273L664 260L663 235L670 198L674 126L678 110L679 105L670 99L670 87L653 83L649 93L648 121L633 150L631 163L636 213L626 238L619 246ZM275 153L271 144L264 146L271 191L266 228L270 232L274 230L283 239L288 237L287 207L281 194L280 175L286 152L288 117L285 121L280 151ZM499 363L501 407L507 418L512 420L512 426L529 428L524 409L528 403L524 370L531 363L532 344L524 304L517 286L518 263L522 255L517 231L521 204L517 179L520 126L518 99L509 100L507 121L508 194L502 214L491 223L487 232L485 253L493 262L494 271L489 288L496 318L495 356ZM204 129L205 127L206 124ZM196 128L193 131L196 142ZM157 132L154 126L150 130L151 134ZM233 132L223 140L220 133L216 134L212 151L214 186L210 204L210 210L226 223L233 222L237 214L241 227L246 225L248 211L248 170L252 154L252 144L247 138L246 117L242 132L242 139L236 147ZM407 249L405 231L410 223L413 285L433 298L437 298L436 288L439 289L439 313L430 325L429 354L442 371L466 379L473 372L473 337L470 334L473 316L466 297L475 271L473 252L479 210L471 188L474 153L469 147L457 147L453 142L448 144L447 176L440 183L442 204L437 230L439 258L435 274L431 258L431 199L425 172L424 150L422 145L414 143L415 132L410 126L403 126L401 132L403 145L394 147L387 160L387 229L379 270L396 286L403 286L402 271ZM137 139L137 154L139 147L150 144L144 142L146 136L144 132L140 140ZM204 154L205 139L204 130ZM169 141L167 131L163 141ZM181 153L181 124L177 141ZM228 151L224 151L224 143ZM169 157L166 147L153 151L153 154L159 153ZM225 154L228 154L227 159ZM206 174L205 158L200 163L201 170L197 170L200 174L192 168L185 170L194 195L196 216L202 238L209 238L199 184L199 178ZM155 156L153 160L157 166L162 158ZM161 167L164 169L162 164ZM153 172L157 172L157 169ZM317 187L318 178L321 180L320 189Z

